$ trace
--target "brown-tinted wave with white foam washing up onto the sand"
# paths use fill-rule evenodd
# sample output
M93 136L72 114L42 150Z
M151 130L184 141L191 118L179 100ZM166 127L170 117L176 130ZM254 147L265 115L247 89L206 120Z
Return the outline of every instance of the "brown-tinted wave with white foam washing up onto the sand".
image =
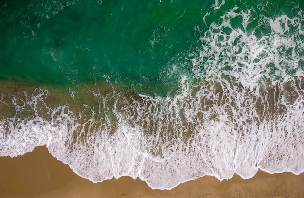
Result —
M204 175L250 178L258 168L303 172L303 79L251 91L217 81L185 89L173 98L102 84L1 91L0 155L47 145L94 182L128 175L160 189Z

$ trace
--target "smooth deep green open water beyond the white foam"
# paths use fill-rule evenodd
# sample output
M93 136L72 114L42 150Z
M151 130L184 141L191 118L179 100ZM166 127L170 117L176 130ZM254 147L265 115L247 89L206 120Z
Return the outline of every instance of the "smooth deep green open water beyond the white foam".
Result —
M202 45L197 30L222 23L225 12L237 6L236 13L250 16L246 27L241 15L233 17L224 33L240 28L260 38L271 33L269 24L260 24L262 17L293 17L303 8L285 1L227 1L217 10L212 5L211 0L1 1L0 78L61 85L122 82L163 93L176 86L181 73L192 75L187 60ZM172 65L178 69L169 75Z

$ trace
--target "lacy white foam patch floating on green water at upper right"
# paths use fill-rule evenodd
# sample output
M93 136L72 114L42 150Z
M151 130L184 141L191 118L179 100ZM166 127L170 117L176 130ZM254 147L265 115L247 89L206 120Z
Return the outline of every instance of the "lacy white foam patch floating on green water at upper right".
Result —
M300 21L303 14L299 13L292 19L282 15L274 20L260 16L259 25L246 31L253 20L252 10L237 12L237 9L235 7L222 16L220 24L213 22L205 32L197 28L196 31L202 35L202 46L196 49L199 53L190 55L197 54L191 59L195 76L221 78L221 75L228 75L250 89L261 80L275 82L280 76L287 81L295 75L303 76L303 69L300 69L303 61ZM239 28L232 27L231 21L236 16L242 19ZM262 26L269 26L269 32L261 32Z

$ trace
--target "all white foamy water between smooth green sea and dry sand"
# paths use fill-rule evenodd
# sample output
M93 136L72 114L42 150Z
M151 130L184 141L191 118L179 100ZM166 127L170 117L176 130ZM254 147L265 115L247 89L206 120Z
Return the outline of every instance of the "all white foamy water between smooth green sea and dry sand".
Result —
M93 182L128 175L158 189L204 175L250 178L259 168L303 172L303 14L262 17L271 32L257 37L258 27L231 27L236 15L244 29L251 21L249 11L235 11L206 32L197 29L202 46L191 52L193 74L181 75L174 96L103 85L71 88L66 97L44 89L2 94L0 109L10 110L0 112L0 156L46 145Z

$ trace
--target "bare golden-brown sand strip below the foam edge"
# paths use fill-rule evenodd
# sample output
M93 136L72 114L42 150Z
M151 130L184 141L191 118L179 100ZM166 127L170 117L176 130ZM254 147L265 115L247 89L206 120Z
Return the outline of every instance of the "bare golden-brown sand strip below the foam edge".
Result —
M0 198L303 198L304 174L259 171L220 182L205 176L172 190L152 190L140 179L93 183L77 176L46 147L16 158L0 157Z

